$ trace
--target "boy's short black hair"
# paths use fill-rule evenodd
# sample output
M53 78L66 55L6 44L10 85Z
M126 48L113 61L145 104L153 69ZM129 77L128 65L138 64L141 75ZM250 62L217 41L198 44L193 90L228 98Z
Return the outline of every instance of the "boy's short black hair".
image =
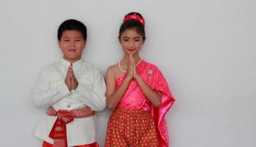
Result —
M79 31L83 35L83 40L86 40L87 38L86 26L83 24L83 22L80 22L76 19L68 19L61 23L61 25L58 28L58 40L61 41L62 33L67 30Z

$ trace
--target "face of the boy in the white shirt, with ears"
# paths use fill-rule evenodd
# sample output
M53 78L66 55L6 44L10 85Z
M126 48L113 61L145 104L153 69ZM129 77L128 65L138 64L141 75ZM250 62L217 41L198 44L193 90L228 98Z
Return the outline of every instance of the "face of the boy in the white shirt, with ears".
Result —
M80 60L86 41L87 39L83 40L83 35L79 31L64 31L61 40L58 40L59 48L63 53L63 58L70 63Z

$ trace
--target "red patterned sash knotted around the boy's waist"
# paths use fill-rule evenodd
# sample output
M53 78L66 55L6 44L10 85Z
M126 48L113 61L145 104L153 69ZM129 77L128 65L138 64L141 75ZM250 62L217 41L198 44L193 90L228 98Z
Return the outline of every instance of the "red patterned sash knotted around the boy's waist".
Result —
M84 118L95 115L95 112L88 106L73 110L58 110L56 111L52 106L48 107L46 112L49 116L58 116L55 121L49 137L54 140L55 147L67 147L67 131L66 124L72 122L74 118Z

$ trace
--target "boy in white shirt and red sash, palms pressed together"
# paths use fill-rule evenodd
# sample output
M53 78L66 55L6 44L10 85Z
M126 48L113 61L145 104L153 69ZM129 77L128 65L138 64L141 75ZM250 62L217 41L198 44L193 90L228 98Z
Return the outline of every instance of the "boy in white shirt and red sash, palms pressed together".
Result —
M48 107L34 133L43 147L98 147L94 111L106 107L106 86L101 73L81 60L86 38L80 21L69 19L58 28L63 58L43 69L33 98L37 108Z

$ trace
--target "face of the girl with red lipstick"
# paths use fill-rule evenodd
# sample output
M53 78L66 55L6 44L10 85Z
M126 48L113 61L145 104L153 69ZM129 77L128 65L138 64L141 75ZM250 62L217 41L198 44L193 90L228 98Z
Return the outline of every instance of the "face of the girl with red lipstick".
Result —
M137 33L136 29L127 29L118 37L125 54L138 54L141 46L145 43L145 39Z

